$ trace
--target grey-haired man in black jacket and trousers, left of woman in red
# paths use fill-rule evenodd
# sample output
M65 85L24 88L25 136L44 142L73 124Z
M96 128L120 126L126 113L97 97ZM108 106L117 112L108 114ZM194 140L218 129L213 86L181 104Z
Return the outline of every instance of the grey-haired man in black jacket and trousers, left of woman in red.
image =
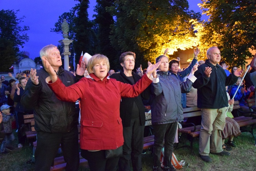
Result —
M61 67L61 56L56 46L52 44L44 46L40 51L40 57L51 64L65 86L76 82L76 77ZM80 68L77 65L76 74L83 75L84 69L84 66ZM67 162L66 170L78 170L78 115L75 114L75 103L57 99L45 82L49 74L44 68L38 71L31 69L30 72L37 75L30 76L21 103L27 109L34 109L35 130L37 131L35 170L50 170L60 144Z

